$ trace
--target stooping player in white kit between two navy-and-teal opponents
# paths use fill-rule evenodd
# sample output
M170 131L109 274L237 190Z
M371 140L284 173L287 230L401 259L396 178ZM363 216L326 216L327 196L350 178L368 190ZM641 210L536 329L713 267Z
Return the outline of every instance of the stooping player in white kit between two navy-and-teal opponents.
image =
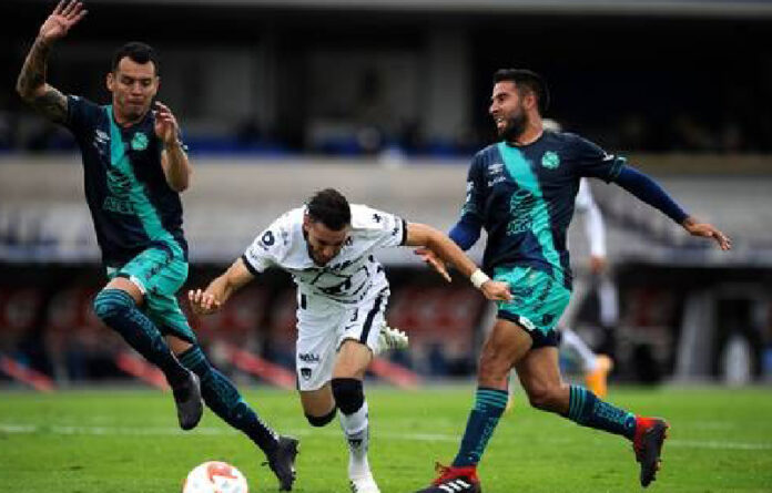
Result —
M341 410L355 493L379 492L367 461L363 379L379 349L389 295L374 251L397 246L428 248L468 276L488 299L511 299L506 283L490 280L439 230L365 205L349 206L332 188L276 219L205 290L189 292L194 311L206 315L268 267L292 274L297 285L296 367L303 410L314 427L329 423ZM448 278L441 265L434 266Z

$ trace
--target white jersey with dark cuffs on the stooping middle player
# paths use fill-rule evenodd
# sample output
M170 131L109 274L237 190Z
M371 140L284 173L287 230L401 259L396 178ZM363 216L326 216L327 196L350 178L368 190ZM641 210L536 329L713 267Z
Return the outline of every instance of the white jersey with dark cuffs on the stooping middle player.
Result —
M398 216L365 205L352 204L351 210L348 238L323 267L308 254L303 232L305 207L292 209L274 220L257 235L242 258L252 274L268 267L288 271L301 295L318 296L342 305L357 304L388 287L384 268L373 253L404 245L407 225Z

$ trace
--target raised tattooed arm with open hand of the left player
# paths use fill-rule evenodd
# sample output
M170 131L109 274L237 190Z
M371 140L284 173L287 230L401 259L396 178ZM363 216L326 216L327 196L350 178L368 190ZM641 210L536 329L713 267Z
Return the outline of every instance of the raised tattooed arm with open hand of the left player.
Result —
M45 82L45 61L51 45L63 38L87 13L88 11L83 10L83 3L79 1L59 2L40 27L38 38L27 54L17 80L17 92L21 99L57 123L63 123L67 120L68 103L67 97L59 90Z

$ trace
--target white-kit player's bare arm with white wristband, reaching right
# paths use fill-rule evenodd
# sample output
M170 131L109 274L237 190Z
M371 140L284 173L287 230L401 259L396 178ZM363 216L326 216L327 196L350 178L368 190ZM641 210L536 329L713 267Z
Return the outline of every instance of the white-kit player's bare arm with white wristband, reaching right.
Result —
M424 247L443 261L453 264L464 276L469 277L471 284L482 291L486 298L491 300L510 300L509 285L491 280L477 265L440 230L420 223L407 224L407 246ZM428 260L427 260L428 261ZM445 265L435 261L430 265L444 277L449 278Z

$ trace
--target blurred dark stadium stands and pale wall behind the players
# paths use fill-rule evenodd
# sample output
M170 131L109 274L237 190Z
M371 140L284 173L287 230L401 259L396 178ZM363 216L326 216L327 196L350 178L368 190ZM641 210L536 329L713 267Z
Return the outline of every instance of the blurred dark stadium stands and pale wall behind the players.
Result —
M74 142L13 89L52 8L0 3L0 383L158 383L91 314L104 278ZM592 183L608 268L602 279L590 275L587 238L572 226L572 261L589 288L572 300L573 325L613 357L612 382L772 381L772 49L763 47L771 2L91 0L88 8L54 48L48 79L108 103L116 47L141 40L160 52L159 99L181 121L195 167L183 195L187 287L204 286L275 216L326 186L447 230L470 156L495 141L492 72L529 68L550 85L547 116L627 155L734 239L721 253L617 186ZM479 260L479 246L473 255ZM376 373L398 384L469 378L495 310L468 281L444 284L407 250L379 257L393 284L389 321L412 347ZM601 286L611 286L611 308L599 304ZM220 316L191 321L237 379L287 384L294 310L291 279L270 273ZM570 358L565 364L571 369Z

